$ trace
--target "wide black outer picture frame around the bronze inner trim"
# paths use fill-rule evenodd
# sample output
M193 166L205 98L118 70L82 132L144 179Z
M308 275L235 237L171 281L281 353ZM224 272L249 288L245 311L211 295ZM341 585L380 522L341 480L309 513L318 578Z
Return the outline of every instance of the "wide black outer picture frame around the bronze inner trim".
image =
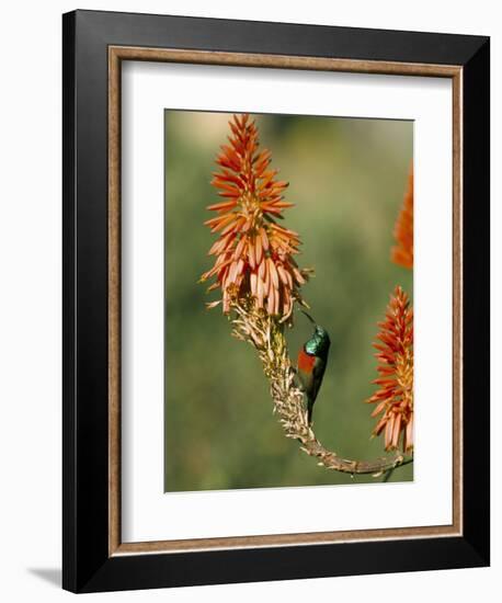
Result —
M95 11L65 14L62 30L64 588L95 592L489 565L489 38ZM110 555L111 45L461 68L461 534Z

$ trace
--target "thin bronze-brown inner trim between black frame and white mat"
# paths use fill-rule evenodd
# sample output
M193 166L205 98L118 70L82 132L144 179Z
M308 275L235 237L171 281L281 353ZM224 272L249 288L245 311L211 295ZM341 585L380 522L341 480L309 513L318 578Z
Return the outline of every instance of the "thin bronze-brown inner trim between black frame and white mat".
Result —
M443 77L453 80L453 523L423 527L122 543L121 541L121 65L122 60ZM109 47L109 556L297 546L463 534L461 149L463 68L284 55Z

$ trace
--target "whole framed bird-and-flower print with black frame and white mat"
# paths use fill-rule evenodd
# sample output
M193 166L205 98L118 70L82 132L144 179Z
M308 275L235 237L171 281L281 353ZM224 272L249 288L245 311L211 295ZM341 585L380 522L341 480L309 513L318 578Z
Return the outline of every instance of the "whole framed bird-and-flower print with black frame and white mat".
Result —
M64 588L489 564L489 39L64 15Z

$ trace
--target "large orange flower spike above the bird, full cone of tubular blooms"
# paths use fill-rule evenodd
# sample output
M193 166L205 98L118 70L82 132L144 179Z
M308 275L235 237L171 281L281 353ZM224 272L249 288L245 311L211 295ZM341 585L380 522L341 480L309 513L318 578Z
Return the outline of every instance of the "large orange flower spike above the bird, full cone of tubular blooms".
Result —
M221 289L225 314L232 298L251 295L259 308L286 320L294 302L303 303L299 287L308 277L294 259L299 236L276 223L293 206L283 196L288 183L270 168L272 153L259 150L258 128L248 114L233 115L229 126L230 144L221 146L212 180L223 201L207 207L217 216L204 223L219 234L208 253L216 261L201 281L215 277L208 291Z

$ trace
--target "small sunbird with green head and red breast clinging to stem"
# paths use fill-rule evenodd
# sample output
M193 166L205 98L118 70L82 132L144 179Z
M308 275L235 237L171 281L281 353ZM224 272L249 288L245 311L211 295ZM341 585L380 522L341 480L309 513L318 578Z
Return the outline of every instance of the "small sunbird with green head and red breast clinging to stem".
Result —
M313 402L324 376L331 342L328 332L316 325L316 321L307 312L303 311L303 314L313 325L313 334L298 352L297 361L297 375L301 389L307 397L307 420L310 424L312 422Z

